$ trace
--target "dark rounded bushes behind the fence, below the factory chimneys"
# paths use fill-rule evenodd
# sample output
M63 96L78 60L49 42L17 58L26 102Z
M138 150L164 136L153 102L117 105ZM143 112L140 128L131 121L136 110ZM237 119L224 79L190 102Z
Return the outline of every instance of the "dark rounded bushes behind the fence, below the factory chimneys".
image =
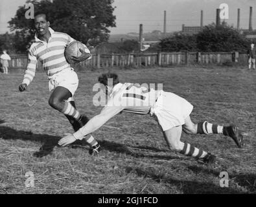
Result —
M226 23L216 27L213 23L207 25L198 34L175 34L161 39L159 49L163 52L243 52L248 49L250 41L238 30Z

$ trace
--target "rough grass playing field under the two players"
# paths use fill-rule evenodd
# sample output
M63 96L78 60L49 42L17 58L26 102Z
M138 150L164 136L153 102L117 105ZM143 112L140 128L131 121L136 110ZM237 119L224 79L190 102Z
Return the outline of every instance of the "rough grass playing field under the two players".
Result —
M90 118L102 107L92 103L99 71L78 72L75 95ZM256 193L256 72L240 68L174 67L117 70L121 82L163 83L165 91L194 105L194 122L237 124L245 138L238 149L221 135L182 135L182 140L220 158L213 168L167 148L150 116L122 113L94 133L104 151L89 157L87 146L52 147L73 131L65 116L48 105L47 76L37 72L25 93L21 73L0 74L0 193ZM38 153L37 153L38 154ZM25 174L34 173L34 188ZM221 171L229 187L220 187Z

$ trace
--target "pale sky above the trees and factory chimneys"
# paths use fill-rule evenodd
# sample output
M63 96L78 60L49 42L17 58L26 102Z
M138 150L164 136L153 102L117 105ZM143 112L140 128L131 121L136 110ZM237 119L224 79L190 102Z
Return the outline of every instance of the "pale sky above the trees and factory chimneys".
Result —
M54 0L53 0L54 1ZM8 29L7 22L15 16L19 6L26 0L0 0L0 34ZM237 8L240 8L240 27L248 29L249 10L253 6L252 23L256 29L256 0L114 0L115 28L111 34L127 34L139 32L139 24L143 24L143 32L163 31L164 11L167 12L167 32L181 30L181 25L200 26L200 11L204 10L204 25L215 22L216 8L221 3L229 6L229 25L237 27Z

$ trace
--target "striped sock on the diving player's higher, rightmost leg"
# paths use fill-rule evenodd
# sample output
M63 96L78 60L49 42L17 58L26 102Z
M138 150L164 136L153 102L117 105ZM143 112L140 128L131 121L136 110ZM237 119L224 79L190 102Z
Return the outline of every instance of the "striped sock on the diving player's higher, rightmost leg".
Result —
M211 124L209 122L200 122L197 126L198 134L223 134L223 126L217 124Z

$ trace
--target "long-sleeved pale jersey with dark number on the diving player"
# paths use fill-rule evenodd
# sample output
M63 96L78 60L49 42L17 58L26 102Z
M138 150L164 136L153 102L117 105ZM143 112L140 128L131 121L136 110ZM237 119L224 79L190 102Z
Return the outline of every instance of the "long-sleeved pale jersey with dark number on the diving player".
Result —
M89 133L99 129L99 127L121 111L148 114L160 93L161 91L148 90L146 87L133 83L118 83L113 87L108 103L101 113L91 118L84 127L80 128L73 135L76 139L82 140L85 135L89 135Z

